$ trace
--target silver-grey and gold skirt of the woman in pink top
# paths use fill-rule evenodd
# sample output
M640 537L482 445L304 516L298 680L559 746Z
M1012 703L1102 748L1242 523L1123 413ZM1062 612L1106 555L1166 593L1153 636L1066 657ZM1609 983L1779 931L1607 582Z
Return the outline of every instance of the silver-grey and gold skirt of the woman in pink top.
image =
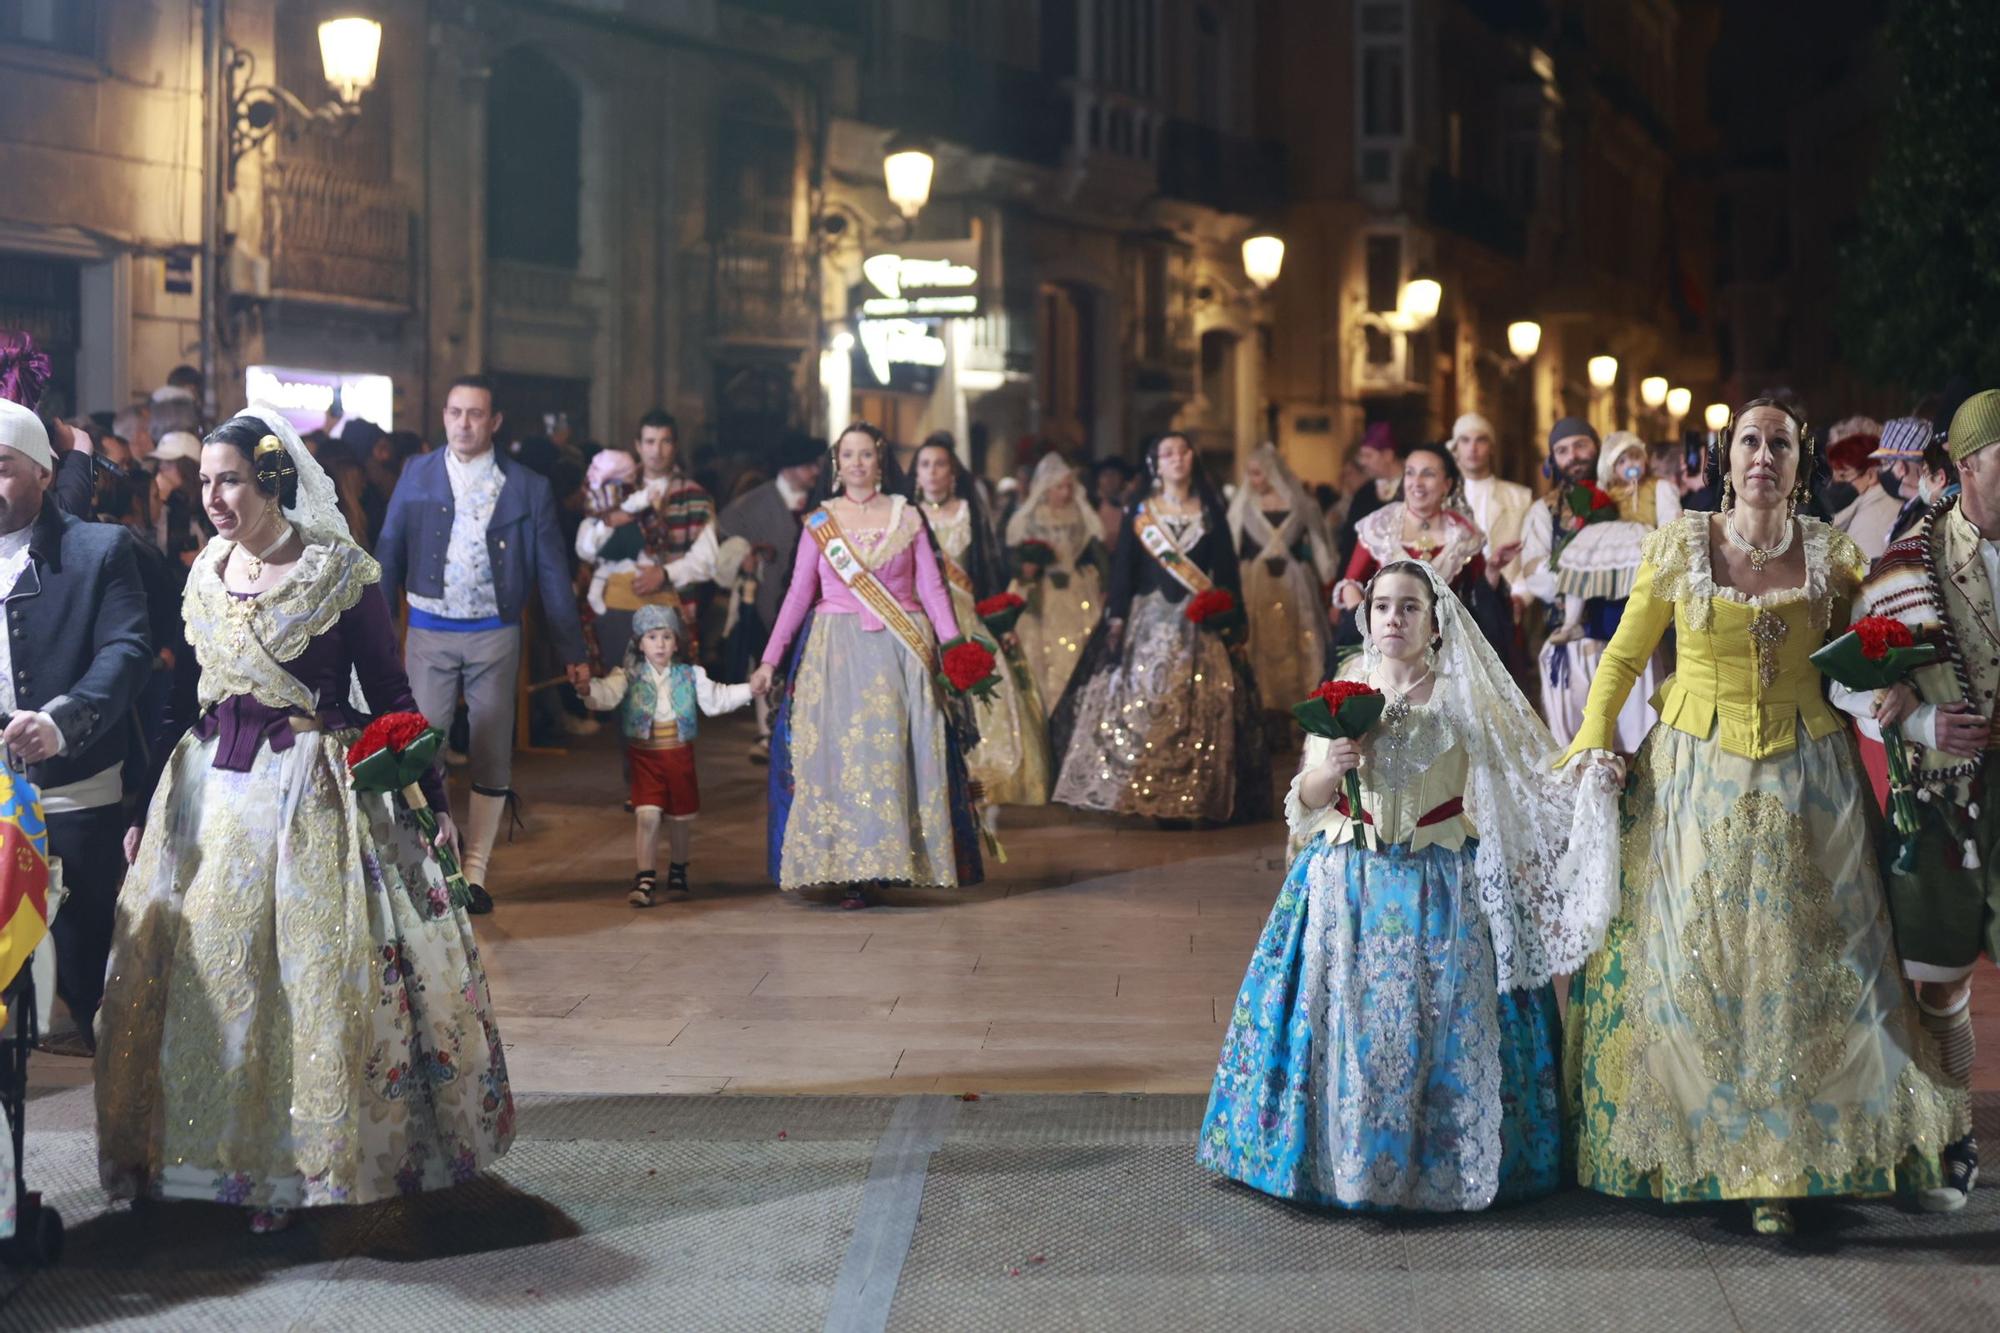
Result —
M820 612L794 677L776 727L784 763L772 747L778 885L958 887L950 747L930 671L894 630Z

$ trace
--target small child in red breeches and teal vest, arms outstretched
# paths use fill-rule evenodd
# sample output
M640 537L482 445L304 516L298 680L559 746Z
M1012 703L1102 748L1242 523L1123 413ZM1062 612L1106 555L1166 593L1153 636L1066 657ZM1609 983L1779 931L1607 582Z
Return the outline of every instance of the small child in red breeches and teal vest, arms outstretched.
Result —
M688 634L672 606L640 606L632 616L632 646L624 664L590 683L592 711L618 711L632 769L632 815L638 819L638 875L632 907L652 907L660 875L660 825L666 823L666 893L688 897L688 845L702 809L694 781L694 735L700 713L732 713L750 703L748 685L716 685L700 666L680 660Z

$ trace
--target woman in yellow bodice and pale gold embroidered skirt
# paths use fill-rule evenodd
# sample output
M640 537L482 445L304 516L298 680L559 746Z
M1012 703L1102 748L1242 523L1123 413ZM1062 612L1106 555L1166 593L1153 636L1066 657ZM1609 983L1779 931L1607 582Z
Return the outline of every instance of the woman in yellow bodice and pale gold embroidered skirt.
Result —
M1788 1233L1794 1197L1934 1185L1970 1111L1898 979L1872 801L1810 660L1848 624L1860 548L1796 516L1796 408L1754 398L1724 438L1722 512L1646 538L1564 757L1622 771L1618 711L1672 624L1678 673L1632 761L1622 901L1572 983L1564 1069L1582 1185L1742 1199Z

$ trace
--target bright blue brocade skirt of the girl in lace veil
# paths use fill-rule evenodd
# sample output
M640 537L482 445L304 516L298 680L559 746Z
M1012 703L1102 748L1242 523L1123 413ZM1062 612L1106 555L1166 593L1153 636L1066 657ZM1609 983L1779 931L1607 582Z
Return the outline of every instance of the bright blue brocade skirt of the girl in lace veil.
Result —
M1318 839L1292 861L1222 1041L1204 1167L1346 1209L1556 1189L1556 995L1496 991L1472 855Z

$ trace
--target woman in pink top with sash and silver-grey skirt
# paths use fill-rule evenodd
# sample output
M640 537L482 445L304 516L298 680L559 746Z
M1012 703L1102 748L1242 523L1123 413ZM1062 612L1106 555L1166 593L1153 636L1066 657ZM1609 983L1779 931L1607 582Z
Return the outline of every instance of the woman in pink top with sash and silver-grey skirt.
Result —
M834 498L806 514L750 689L788 683L770 741L770 875L782 889L956 889L982 879L960 737L936 683L958 636L922 514L886 494L868 424L834 442ZM786 652L790 648L790 654Z

